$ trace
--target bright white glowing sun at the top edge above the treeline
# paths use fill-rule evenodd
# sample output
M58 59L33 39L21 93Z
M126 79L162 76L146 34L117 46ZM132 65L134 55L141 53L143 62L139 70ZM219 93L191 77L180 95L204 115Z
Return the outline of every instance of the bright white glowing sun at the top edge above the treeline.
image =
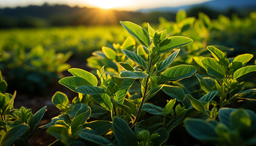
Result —
M123 0L93 0L90 3L102 9L113 9L126 6L126 1Z

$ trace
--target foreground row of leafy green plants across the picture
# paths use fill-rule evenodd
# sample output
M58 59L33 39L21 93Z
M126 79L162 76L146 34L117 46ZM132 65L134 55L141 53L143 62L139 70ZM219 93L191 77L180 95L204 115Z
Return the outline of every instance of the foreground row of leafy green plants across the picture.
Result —
M174 60L185 46L193 44L191 38L168 37L166 30L154 30L149 24L146 30L128 21L121 24L140 45L136 47L135 40L128 37L123 44L113 44L113 49L102 47L94 52L87 61L97 69L97 77L83 69L68 69L72 76L59 83L77 92L77 97L69 101L65 93L56 92L52 104L62 113L40 127L57 139L52 145L171 145L174 141L169 139L178 127L202 141L196 141L198 144L256 144L254 111L227 108L237 102L255 103L256 89L245 90L242 78L256 71L255 64L246 66L252 54L227 58L218 47L207 46L212 57L201 55L197 67L178 64ZM198 73L199 69L207 74ZM9 109L15 111L12 106ZM24 117L16 122L17 129L28 131L26 124L35 117L40 120L44 111L21 114ZM12 117L10 114L2 117ZM6 127L2 145L24 141L24 134L10 132L18 130L13 130L8 118L1 123Z

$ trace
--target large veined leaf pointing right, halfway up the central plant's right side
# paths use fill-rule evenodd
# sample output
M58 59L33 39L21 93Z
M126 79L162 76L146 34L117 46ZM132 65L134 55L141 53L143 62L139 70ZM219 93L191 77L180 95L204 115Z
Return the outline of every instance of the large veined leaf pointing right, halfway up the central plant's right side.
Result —
M196 72L196 68L191 65L178 65L167 69L160 75L159 83L168 81L182 80L183 78L191 77Z

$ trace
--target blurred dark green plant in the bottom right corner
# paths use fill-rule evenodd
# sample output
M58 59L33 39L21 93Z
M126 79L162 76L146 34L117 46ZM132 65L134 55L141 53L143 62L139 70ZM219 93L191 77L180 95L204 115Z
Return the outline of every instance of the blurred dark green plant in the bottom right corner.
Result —
M216 145L255 145L256 114L248 109L219 109L216 120L185 119L188 133Z

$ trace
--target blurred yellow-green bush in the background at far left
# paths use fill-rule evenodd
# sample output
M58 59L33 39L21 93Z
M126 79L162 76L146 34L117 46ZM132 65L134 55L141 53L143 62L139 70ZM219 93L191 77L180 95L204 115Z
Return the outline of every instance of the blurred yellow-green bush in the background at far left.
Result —
M72 53L55 53L55 50L44 50L37 46L29 52L16 49L14 52L4 52L0 66L7 70L5 77L10 86L19 91L45 94L54 80L62 77L62 72L71 66L68 59ZM18 83L18 84L17 84Z

